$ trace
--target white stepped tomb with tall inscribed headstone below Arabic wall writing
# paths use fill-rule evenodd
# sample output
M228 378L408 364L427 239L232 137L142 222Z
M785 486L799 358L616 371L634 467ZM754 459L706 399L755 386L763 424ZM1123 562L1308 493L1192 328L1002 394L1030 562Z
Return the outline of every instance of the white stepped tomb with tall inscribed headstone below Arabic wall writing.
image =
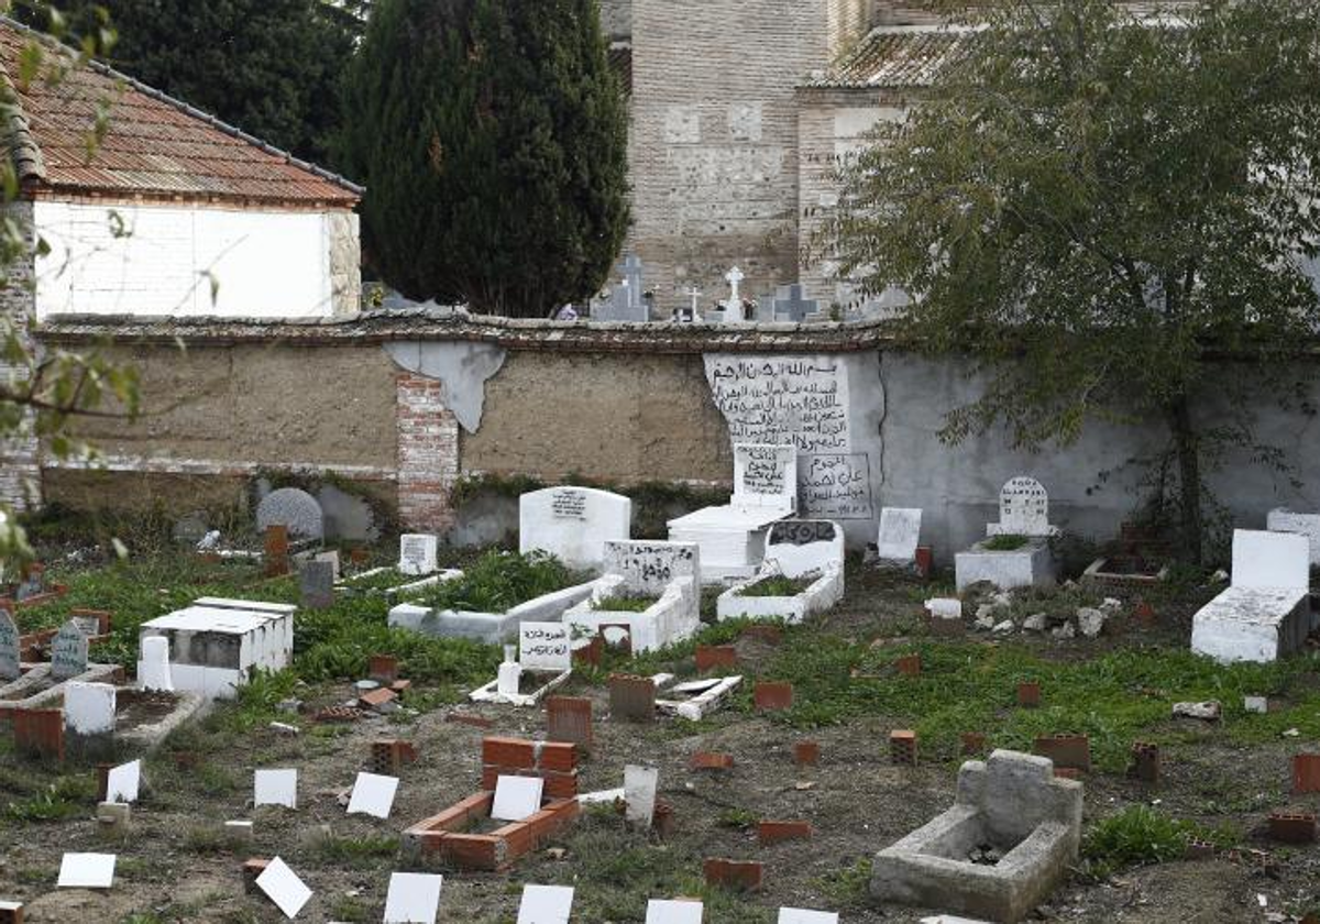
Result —
M734 494L723 507L706 507L669 521L669 541L701 546L702 579L723 583L756 573L770 527L797 511L797 450L793 446L734 446Z

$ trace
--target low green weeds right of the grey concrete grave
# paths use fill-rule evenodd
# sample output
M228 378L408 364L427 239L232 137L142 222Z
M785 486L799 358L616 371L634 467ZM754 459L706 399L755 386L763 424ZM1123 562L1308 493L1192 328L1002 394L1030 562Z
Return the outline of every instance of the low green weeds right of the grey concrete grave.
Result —
M1129 805L1098 821L1082 840L1084 869L1104 879L1129 866L1181 859L1189 840L1229 846L1232 833L1171 818L1146 805Z

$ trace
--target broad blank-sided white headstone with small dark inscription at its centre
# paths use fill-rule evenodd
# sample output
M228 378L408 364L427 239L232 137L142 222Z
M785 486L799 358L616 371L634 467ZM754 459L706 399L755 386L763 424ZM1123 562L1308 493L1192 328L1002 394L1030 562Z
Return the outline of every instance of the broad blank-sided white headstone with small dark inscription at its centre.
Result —
M549 487L517 502L519 552L548 552L579 572L599 572L605 544L632 535L632 500L590 487Z

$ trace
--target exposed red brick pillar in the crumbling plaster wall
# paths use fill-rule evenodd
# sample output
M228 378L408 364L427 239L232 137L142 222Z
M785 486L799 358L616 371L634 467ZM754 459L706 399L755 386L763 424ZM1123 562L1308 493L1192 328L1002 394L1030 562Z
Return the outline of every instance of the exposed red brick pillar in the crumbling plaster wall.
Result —
M441 533L454 525L449 491L458 479L458 420L438 380L400 372L395 384L399 517L408 529Z

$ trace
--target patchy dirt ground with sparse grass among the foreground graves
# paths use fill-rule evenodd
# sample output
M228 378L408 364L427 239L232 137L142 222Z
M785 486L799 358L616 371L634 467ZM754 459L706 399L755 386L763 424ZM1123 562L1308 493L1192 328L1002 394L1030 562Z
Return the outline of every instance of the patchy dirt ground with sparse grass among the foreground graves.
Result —
M870 572L850 573L845 602L813 631L822 636L871 639L902 632L920 614L923 587ZM1189 607L1162 630L1164 640L1185 645ZM1051 656L1089 659L1159 635L1123 631L1096 642L1035 639ZM760 640L738 642L741 671L750 678L774 656ZM508 874L445 873L440 920L502 924L517 913L523 883L578 887L574 920L639 923L647 898L693 895L702 888L706 857L759 859L764 888L748 896L708 894L706 921L772 921L780 906L841 912L850 924L915 923L936 909L879 907L866 898L866 863L879 849L923 825L952 803L957 760L917 767L890 763L887 738L895 727L869 714L820 729L795 729L774 717L726 709L700 723L660 719L638 725L611 719L603 688L574 682L566 690L594 701L595 746L581 764L581 791L622 785L627 763L660 771L660 799L675 809L667 840L630 832L610 810L587 810L550 847ZM414 702L425 702L425 689ZM30 924L164 921L277 921L282 915L260 895L244 892L240 867L248 857L284 858L313 888L298 916L306 921L379 921L391 870L409 869L393 854L399 834L471 795L480 775L484 734L540 738L544 714L507 706L438 706L416 717L372 717L347 725L318 725L310 714L352 697L350 682L304 686L297 719L301 733L281 734L259 725L242 735L213 738L185 733L148 758L147 791L133 807L132 826L108 841L92 820L94 800L82 799L59 821L0 822L0 899L26 904ZM451 714L491 719L491 730L450 721ZM994 735L994 729L986 729ZM370 743L399 737L416 743L420 758L401 772L388 821L347 816L337 795L366 768ZM5 737L8 738L8 737ZM796 767L795 742L821 746L817 767ZM223 742L223 750L216 743ZM1278 741L1243 746L1216 727L1188 729L1168 748L1163 781L1150 788L1122 775L1084 777L1088 824L1130 804L1206 824L1232 824L1243 847L1267 851L1269 863L1249 859L1177 861L1129 869L1107 880L1076 875L1038 917L1061 921L1288 921L1320 891L1320 847L1284 847L1263 832L1265 817L1282 804L1320 808L1316 796L1287 792L1288 756L1315 742ZM8 747L8 743L0 746ZM177 751L201 751L195 767L180 767ZM694 751L733 755L729 772L689 770ZM296 812L251 808L252 771L297 767ZM0 805L15 800L25 775L91 776L77 766L41 770L0 752ZM226 820L252 818L255 842L232 846L218 836ZM808 820L814 836L771 847L756 843L760 818ZM65 851L119 854L115 887L107 892L55 890ZM669 891L664 891L669 890Z

